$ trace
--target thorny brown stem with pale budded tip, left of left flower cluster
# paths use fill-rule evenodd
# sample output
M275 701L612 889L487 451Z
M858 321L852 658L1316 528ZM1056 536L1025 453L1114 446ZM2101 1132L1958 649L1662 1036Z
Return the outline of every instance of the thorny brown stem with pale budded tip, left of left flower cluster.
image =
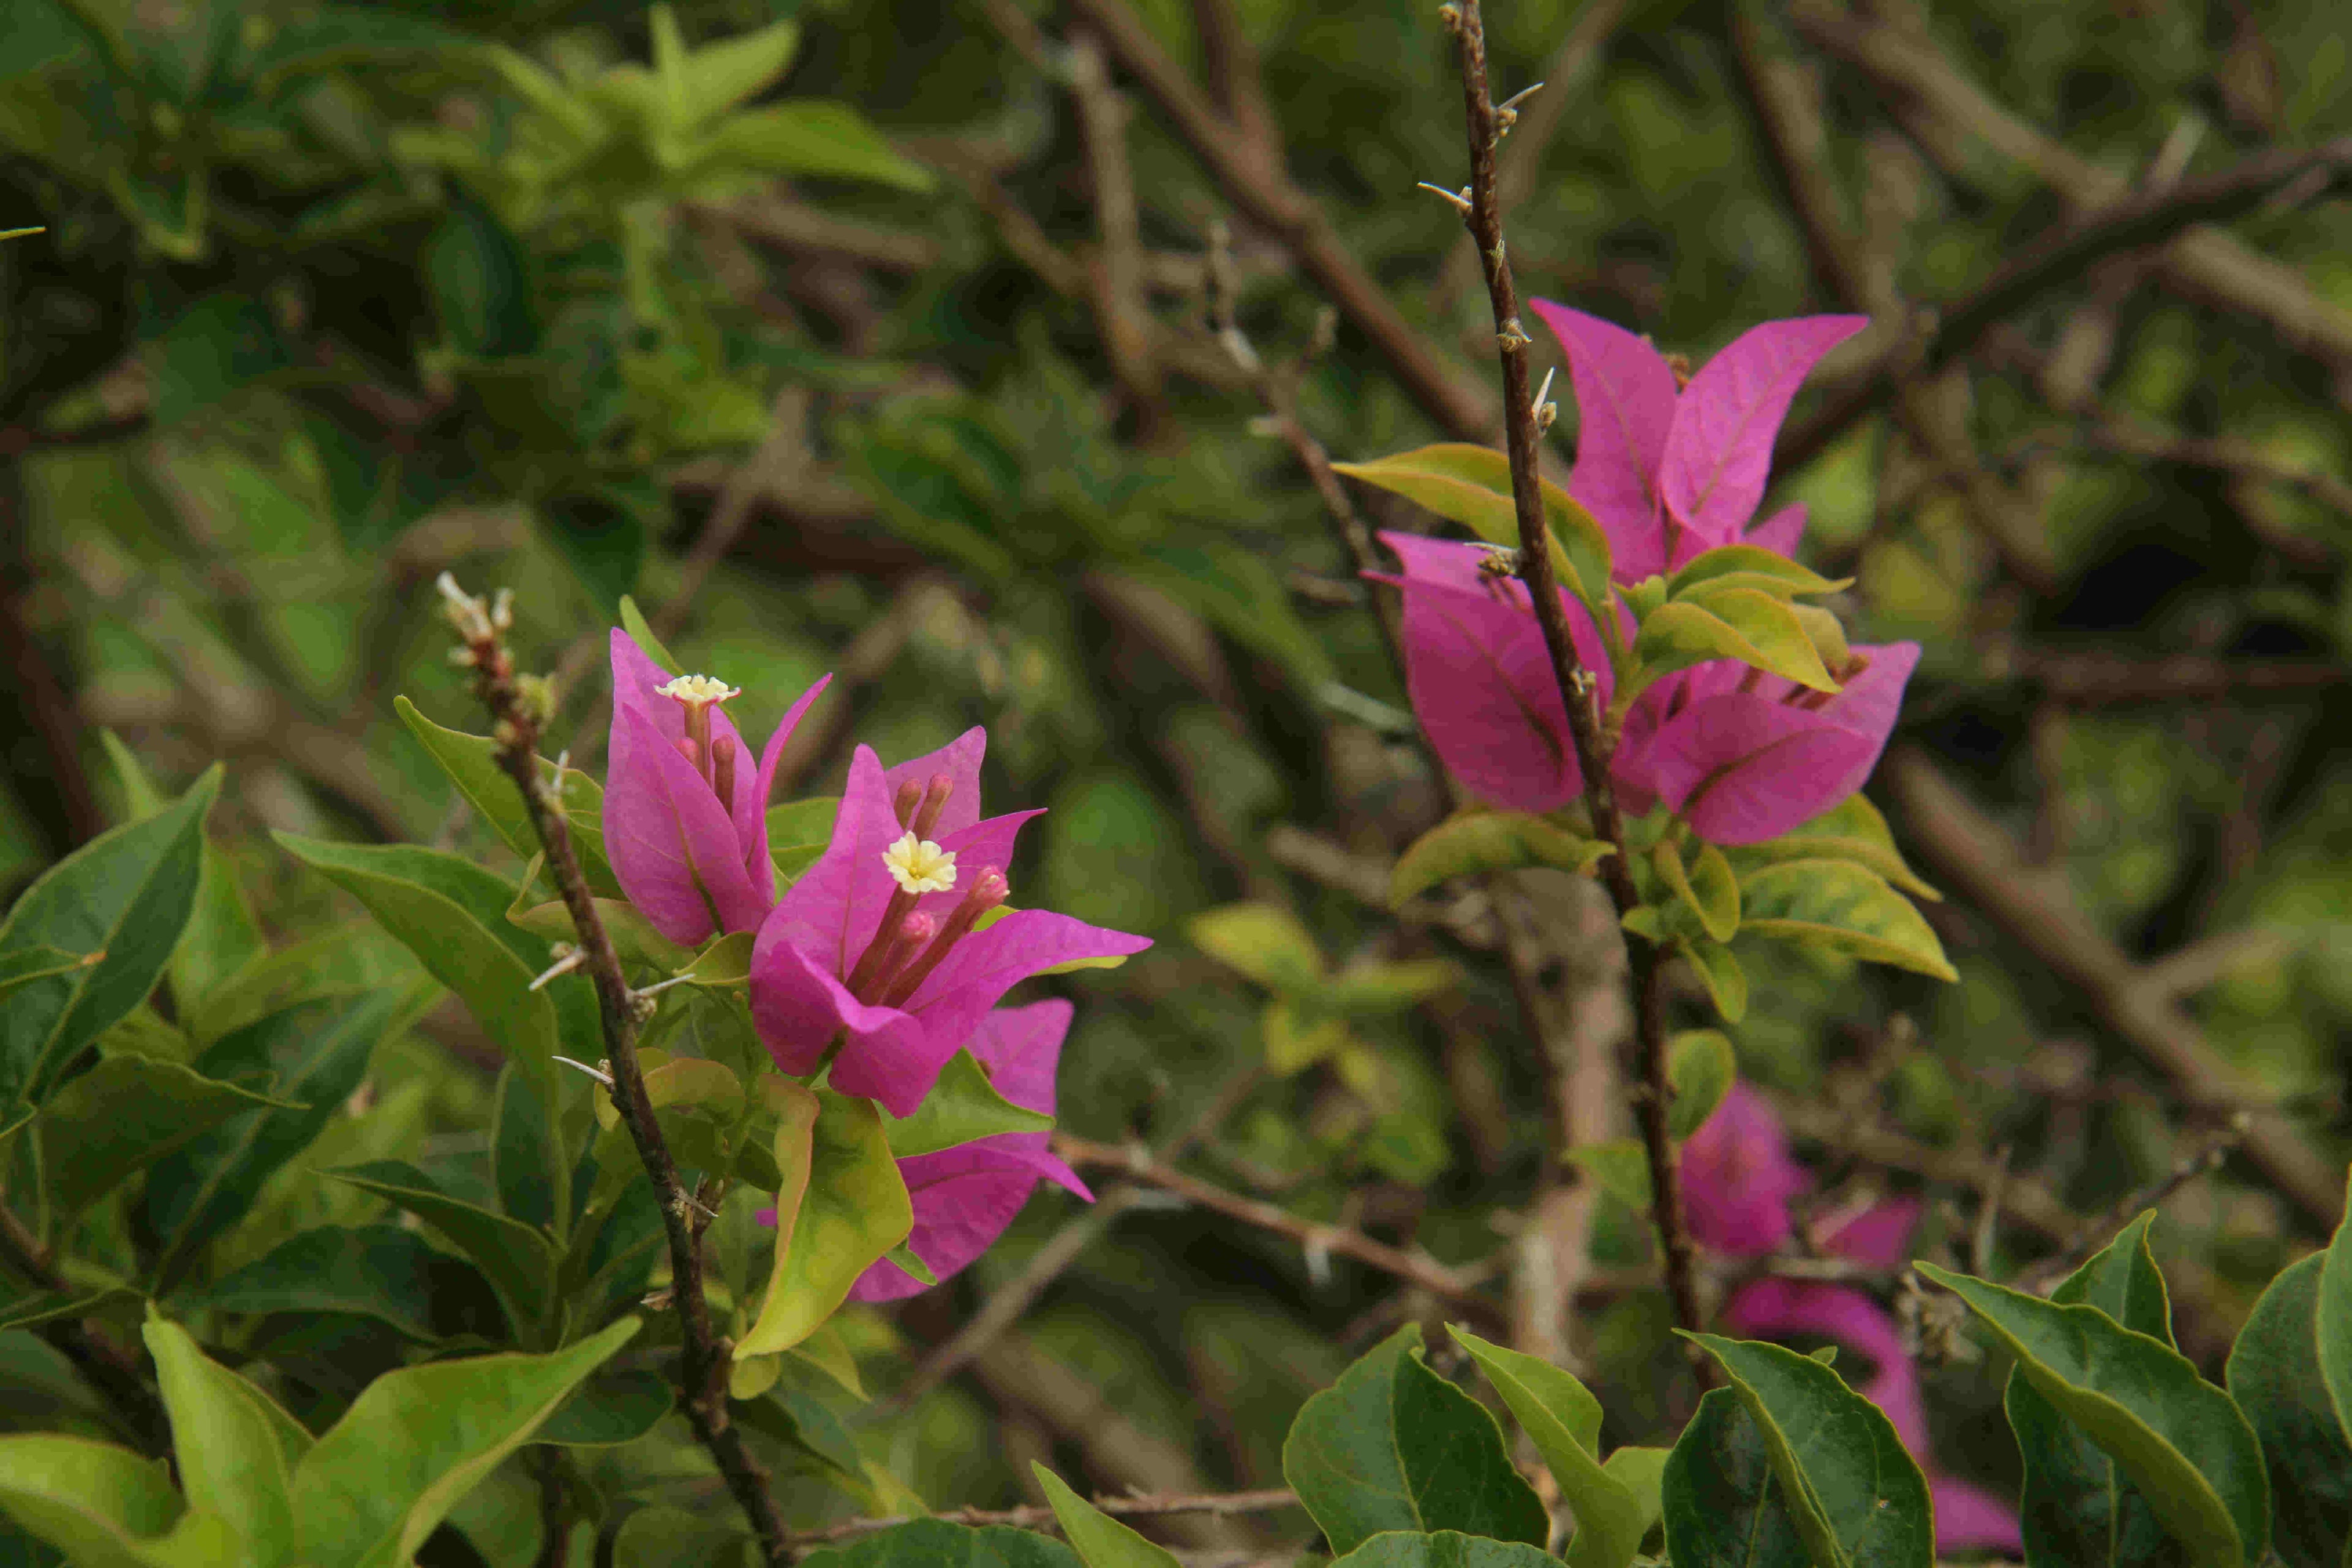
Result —
M637 1063L637 1027L652 1013L649 999L628 987L621 971L621 954L614 952L604 917L597 914L581 875L579 851L572 846L572 823L564 818L555 790L539 776L539 731L548 710L543 682L529 682L515 672L515 663L503 644L506 595L492 609L482 599L459 592L449 574L440 578L449 599L449 618L466 639L473 665L475 698L492 715L492 733L499 738L499 769L515 780L522 804L539 832L539 846L548 856L548 872L572 914L579 950L586 954L588 978L595 983L597 1018L604 1025L604 1058L612 1072L612 1103L628 1126L637 1159L647 1180L661 1199L661 1225L670 1241L670 1300L677 1307L680 1356L677 1385L694 1425L694 1434L710 1450L713 1462L727 1479L727 1490L750 1521L760 1540L760 1554L771 1568L790 1561L793 1535L776 1512L776 1497L767 1490L767 1472L743 1446L743 1434L727 1413L727 1361L731 1345L710 1324L710 1300L703 1293L703 1253L694 1227L694 1199L677 1175L677 1161L661 1138L654 1119L654 1103L644 1091L644 1070ZM539 686L536 691L532 686Z

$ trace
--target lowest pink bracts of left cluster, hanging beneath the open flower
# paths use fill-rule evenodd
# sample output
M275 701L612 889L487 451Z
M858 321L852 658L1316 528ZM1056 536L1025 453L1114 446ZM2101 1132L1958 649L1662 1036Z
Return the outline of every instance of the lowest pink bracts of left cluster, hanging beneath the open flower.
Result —
M1068 1001L1000 1006L974 1030L971 1056L988 1070L997 1093L1051 1117L1054 1070L1068 1032ZM995 1246L1040 1180L1094 1201L1087 1182L1047 1150L1044 1133L997 1133L955 1150L913 1154L898 1161L898 1175L915 1199L915 1232L906 1244L936 1279L955 1274ZM858 1276L849 1295L861 1302L887 1302L924 1288L929 1286L884 1258Z

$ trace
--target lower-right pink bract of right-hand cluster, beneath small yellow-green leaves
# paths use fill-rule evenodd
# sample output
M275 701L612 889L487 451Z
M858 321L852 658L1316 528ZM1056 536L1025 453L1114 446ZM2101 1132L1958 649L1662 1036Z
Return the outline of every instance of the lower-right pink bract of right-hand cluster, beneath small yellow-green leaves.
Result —
M1863 788L1917 665L1917 642L1886 642L1851 649L1837 693L1729 658L1668 677L1625 715L1618 799L1663 799L1710 844L1780 837Z

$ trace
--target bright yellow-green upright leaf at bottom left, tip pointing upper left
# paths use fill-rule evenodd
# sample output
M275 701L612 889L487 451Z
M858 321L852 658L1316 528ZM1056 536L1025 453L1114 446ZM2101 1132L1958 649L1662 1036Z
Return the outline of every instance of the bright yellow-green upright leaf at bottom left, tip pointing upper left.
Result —
M188 1507L226 1519L252 1568L278 1568L294 1549L294 1467L310 1453L310 1434L153 1307L143 1335Z

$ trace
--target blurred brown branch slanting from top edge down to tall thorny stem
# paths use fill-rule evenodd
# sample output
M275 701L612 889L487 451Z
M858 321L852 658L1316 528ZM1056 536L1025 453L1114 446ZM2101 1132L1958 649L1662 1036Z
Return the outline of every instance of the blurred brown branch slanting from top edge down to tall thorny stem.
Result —
M1491 404L1446 369L1390 303L1388 292L1348 252L1322 207L1291 183L1282 148L1249 139L1242 125L1218 113L1127 0L1070 0L1070 12L1101 33L1110 54L1174 122L1176 134L1209 167L1235 207L1289 244L1341 315L1388 362L1430 423L1461 440L1486 437L1494 430Z

